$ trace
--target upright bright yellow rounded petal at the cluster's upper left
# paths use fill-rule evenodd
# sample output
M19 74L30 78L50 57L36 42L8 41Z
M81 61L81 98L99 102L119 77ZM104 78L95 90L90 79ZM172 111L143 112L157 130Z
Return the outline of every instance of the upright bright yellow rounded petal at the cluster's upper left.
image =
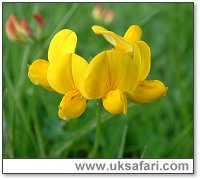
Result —
M61 54L74 53L76 48L76 42L77 36L75 32L69 29L63 29L56 33L49 45L49 62L53 61Z

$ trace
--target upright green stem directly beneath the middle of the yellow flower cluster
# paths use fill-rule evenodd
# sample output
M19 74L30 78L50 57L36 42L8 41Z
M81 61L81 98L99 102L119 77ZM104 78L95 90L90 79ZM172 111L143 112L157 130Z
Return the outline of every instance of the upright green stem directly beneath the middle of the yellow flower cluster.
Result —
M97 154L97 150L99 148L100 135L101 135L101 101L97 100L97 124L96 124L96 138L94 142L94 146L92 148L91 153L89 154L89 158L95 157Z

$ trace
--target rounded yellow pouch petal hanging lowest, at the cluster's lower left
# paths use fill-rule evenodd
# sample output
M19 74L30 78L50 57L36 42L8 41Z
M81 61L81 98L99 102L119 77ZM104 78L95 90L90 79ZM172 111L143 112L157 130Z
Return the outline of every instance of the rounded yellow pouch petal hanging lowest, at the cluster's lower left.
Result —
M76 90L69 91L60 102L58 115L63 120L77 118L85 108L86 99Z

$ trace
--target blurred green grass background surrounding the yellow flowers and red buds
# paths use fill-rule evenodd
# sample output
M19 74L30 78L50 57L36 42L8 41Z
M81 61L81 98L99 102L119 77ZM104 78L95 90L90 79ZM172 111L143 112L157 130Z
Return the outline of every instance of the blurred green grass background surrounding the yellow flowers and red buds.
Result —
M193 157L193 3L104 3L115 12L109 25L91 16L95 3L3 3L3 157L4 158L192 158ZM5 22L14 13L25 17L40 33L32 15L40 13L46 26L34 44L10 41ZM169 87L165 97L140 105L129 102L127 123L101 107L99 146L94 150L96 101L74 120L57 116L62 95L33 85L27 64L47 59L55 32L77 33L76 53L88 61L110 48L91 26L102 25L123 35L132 24L143 29L151 47L147 79ZM93 150L92 150L93 149Z

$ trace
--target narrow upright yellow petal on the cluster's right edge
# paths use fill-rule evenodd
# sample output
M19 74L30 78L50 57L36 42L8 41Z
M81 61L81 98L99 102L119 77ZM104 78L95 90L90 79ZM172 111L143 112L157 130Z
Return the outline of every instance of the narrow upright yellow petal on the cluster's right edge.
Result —
M149 74L151 67L151 51L150 47L144 41L137 41L137 46L141 55L141 68L139 80L145 80Z

